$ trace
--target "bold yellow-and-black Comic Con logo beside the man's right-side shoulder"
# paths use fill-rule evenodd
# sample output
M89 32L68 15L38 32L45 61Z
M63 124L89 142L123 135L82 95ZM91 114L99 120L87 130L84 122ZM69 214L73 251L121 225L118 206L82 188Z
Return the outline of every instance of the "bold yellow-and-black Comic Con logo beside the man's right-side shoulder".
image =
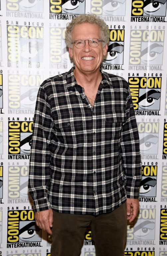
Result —
M160 110L161 77L129 77L128 82L134 110Z

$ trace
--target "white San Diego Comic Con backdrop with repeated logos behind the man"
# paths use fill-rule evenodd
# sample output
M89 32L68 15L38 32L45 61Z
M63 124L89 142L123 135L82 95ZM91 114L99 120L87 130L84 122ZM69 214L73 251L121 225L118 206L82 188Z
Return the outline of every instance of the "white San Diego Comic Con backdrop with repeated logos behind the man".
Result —
M0 256L50 255L27 189L34 108L43 80L73 66L66 24L88 12L108 25L101 68L129 82L139 130L140 211L125 255L167 255L166 9L167 0L0 1ZM90 229L81 256L95 256Z

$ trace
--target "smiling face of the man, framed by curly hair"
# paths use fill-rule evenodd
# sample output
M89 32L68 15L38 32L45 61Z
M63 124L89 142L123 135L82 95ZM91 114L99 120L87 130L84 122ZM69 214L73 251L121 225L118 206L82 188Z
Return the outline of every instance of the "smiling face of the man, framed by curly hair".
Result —
M78 39L102 39L98 25L90 23L76 25L72 31L72 38L73 41ZM103 47L102 42L96 48L90 47L88 41L85 41L85 46L82 49L78 49L74 44L73 48L69 48L70 57L74 59L75 69L81 73L93 73L98 70L106 52L107 45Z

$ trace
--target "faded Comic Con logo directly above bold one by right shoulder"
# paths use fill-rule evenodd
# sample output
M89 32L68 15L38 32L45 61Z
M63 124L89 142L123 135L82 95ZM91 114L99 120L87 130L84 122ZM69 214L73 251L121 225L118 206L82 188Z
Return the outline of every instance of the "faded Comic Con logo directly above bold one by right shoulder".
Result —
M130 65L162 65L164 30L130 31Z

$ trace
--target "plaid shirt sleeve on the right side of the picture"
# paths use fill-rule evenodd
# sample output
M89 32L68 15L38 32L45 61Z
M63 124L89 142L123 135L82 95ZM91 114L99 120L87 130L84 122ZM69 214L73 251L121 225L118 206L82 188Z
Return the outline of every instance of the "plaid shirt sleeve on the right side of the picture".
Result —
M141 155L138 128L129 87L126 98L126 121L121 132L120 154L127 198L138 198L141 180Z

